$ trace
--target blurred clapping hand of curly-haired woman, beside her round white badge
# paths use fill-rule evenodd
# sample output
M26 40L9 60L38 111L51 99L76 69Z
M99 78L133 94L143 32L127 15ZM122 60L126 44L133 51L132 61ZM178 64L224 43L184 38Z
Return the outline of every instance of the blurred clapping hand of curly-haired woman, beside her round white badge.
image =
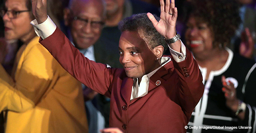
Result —
M224 75L221 77L221 81L223 84L222 91L225 93L226 105L228 108L236 112L239 102L236 97L236 88L231 81L228 81L229 84L226 83L226 77Z

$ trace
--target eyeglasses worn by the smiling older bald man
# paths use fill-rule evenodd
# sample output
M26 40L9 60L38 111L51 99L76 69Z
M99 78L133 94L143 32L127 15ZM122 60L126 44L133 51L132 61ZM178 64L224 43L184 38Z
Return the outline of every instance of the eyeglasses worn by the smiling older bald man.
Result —
M86 26L88 23L90 23L91 27L95 30L102 28L102 26L105 24L102 21L91 21L91 20L83 19L77 16L74 17L74 20L78 20L78 24L82 26Z

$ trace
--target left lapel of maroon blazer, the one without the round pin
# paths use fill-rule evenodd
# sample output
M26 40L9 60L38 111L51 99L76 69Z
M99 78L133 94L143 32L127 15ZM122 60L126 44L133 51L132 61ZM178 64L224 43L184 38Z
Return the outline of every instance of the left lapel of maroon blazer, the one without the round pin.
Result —
M120 92L121 92L121 96L125 100L126 104L130 103L133 84L134 84L134 80L129 77L125 77L122 81L122 86L121 86Z

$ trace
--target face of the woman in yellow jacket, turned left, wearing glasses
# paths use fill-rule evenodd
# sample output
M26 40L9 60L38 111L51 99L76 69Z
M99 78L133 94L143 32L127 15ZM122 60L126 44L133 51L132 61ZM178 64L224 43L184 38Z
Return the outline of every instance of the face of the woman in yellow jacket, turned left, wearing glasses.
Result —
M27 11L26 0L7 0L5 6L8 12L4 14L3 21L7 40L26 40L32 34L35 34L33 26L30 24L32 18L30 17L30 12ZM24 12L19 13L19 11ZM14 15L17 14L16 18L12 18L13 13Z

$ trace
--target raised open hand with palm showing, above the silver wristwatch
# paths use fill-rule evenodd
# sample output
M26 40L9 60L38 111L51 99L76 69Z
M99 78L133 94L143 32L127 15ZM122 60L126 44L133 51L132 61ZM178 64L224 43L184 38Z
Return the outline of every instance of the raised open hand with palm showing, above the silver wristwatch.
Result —
M147 13L148 18L153 23L156 30L166 39L171 39L176 35L176 20L178 16L177 8L175 7L174 0L160 0L160 21L158 22L156 18L151 14Z

